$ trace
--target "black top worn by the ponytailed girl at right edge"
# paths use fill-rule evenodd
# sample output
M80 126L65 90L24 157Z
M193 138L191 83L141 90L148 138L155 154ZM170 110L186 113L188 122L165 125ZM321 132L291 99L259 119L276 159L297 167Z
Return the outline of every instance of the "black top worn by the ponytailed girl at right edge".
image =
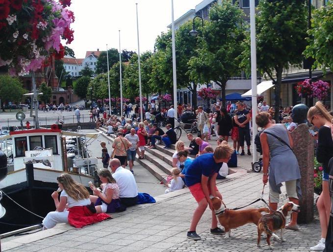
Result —
M321 126L318 131L318 146L316 152L317 161L323 164L326 173L330 173L328 167L330 159L333 157L333 140L331 128Z

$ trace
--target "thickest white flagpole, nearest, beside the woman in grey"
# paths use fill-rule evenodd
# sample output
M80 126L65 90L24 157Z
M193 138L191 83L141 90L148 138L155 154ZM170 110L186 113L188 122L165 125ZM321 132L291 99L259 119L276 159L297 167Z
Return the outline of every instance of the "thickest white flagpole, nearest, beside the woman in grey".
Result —
M258 132L256 126L256 5L255 0L250 0L250 24L251 24L251 88L252 88L252 162L258 160L255 137Z

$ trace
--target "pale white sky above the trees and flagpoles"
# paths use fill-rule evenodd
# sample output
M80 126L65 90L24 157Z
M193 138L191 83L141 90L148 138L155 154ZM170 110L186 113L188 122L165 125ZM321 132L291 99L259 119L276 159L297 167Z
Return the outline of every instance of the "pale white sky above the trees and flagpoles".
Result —
M175 20L202 0L174 0ZM86 51L108 48L137 52L136 9L138 3L140 54L154 50L154 42L171 24L171 0L72 0L69 7L74 12L74 41L76 58L85 57Z

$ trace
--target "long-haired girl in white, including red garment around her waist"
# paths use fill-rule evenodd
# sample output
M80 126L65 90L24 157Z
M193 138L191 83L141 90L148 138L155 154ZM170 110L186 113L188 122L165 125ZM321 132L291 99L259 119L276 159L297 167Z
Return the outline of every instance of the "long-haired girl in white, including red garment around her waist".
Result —
M95 208L91 205L88 190L77 183L71 175L62 173L57 177L57 181L59 189L51 195L56 211L47 214L43 220L43 230L52 228L58 223L82 227L110 218L107 214L96 214ZM60 201L58 191L62 191Z

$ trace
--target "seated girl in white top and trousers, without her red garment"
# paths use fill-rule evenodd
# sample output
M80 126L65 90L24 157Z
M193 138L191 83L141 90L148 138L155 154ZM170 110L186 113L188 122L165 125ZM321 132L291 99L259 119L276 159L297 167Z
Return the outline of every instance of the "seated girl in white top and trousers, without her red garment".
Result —
M51 197L54 200L56 211L47 214L43 220L43 230L54 227L58 223L68 223L68 209L75 206L90 205L88 190L73 180L68 173L62 173L57 177L58 190L62 190L60 201L58 193L53 192Z

